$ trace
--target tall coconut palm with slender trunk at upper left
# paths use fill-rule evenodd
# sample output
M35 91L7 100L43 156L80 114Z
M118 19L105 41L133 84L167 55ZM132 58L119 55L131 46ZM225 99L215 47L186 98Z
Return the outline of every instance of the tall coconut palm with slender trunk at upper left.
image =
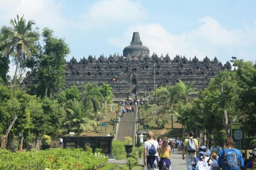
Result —
M9 55L14 57L16 64L16 70L13 76L13 85L16 85L16 76L19 68L21 57L24 59L30 57L32 52L37 52L35 47L35 41L39 39L39 34L32 31L32 26L35 24L34 21L30 20L26 23L26 20L14 18L10 20L11 27L3 26L1 28L1 34L3 40L0 42L0 47L3 49L3 54L9 58Z

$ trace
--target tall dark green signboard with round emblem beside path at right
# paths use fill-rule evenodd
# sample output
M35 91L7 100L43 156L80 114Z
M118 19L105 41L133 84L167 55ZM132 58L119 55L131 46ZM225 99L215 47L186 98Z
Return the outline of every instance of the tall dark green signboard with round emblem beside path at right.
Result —
M242 130L242 123L231 123L231 137L234 140L234 147L241 149L241 138L245 138L245 134Z

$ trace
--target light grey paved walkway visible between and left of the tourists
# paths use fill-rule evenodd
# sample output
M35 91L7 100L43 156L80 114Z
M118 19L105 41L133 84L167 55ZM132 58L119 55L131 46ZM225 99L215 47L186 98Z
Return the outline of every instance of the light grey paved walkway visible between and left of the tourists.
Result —
M186 170L186 161L182 160L182 152L177 151L177 149L175 149L174 153L171 153L171 167L172 170ZM116 160L116 159L109 159L108 163L112 163L112 164L126 164L126 159L122 159L122 160ZM143 159L139 160L139 165L140 166L144 166L143 165ZM146 170L146 167L143 168L143 170Z

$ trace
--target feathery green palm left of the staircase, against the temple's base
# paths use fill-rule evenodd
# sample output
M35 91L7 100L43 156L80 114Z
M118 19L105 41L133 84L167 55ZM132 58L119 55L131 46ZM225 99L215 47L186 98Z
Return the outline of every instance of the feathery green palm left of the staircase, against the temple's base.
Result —
M82 101L86 108L93 108L95 116L97 116L98 110L102 106L103 96L99 91L99 87L96 84L87 83L84 86L82 93Z

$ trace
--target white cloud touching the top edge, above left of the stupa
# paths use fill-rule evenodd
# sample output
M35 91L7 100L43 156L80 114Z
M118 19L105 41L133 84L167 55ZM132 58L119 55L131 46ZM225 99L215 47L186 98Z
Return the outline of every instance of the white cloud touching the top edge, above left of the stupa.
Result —
M139 2L101 0L90 6L86 13L81 13L74 25L84 30L101 27L104 29L112 24L135 23L146 15L146 9Z

